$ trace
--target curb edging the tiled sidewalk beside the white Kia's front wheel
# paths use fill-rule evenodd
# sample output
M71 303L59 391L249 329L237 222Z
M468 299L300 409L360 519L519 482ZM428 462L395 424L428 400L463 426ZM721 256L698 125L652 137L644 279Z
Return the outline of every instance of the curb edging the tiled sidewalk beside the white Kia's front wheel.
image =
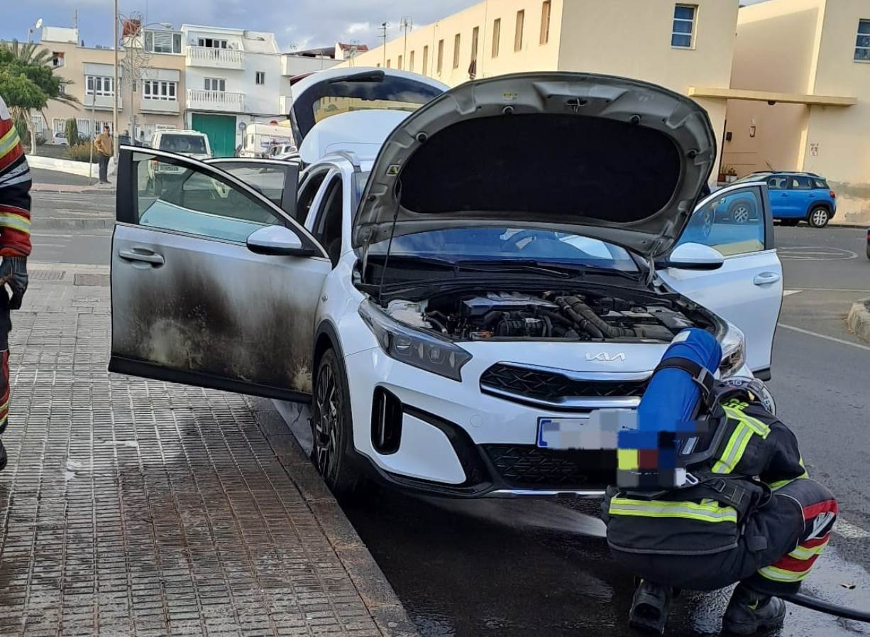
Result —
M291 433L293 423L278 412L271 400L249 397L248 401L272 451L314 514L380 632L385 637L419 637L384 572ZM306 418L304 409L299 405L294 410L297 419Z

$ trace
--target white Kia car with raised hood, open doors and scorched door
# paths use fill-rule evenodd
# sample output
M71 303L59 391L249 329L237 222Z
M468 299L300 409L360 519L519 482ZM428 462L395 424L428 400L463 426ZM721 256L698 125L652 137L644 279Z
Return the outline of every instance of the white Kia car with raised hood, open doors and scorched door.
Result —
M612 449L553 448L543 425L594 434L597 410L637 406L688 326L719 339L721 376L769 375L765 184L693 214L716 144L692 100L579 73L305 82L298 179L295 163L122 149L111 371L311 401L336 492L369 477L458 498L599 497ZM373 101L396 108L355 108ZM184 171L160 198L137 179L152 161ZM251 171L283 178L280 200ZM736 196L759 223L710 214Z

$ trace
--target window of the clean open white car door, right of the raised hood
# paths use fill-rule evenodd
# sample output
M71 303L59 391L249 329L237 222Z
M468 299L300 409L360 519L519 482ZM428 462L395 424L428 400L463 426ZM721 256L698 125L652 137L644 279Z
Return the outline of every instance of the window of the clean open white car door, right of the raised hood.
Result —
M764 215L757 188L728 192L694 212L679 244L709 245L726 257L765 250Z

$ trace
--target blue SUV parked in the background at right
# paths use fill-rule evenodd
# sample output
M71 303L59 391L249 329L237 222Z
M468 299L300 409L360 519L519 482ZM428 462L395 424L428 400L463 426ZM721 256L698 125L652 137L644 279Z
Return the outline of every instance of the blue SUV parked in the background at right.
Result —
M767 182L773 218L782 225L806 220L813 228L824 228L837 213L837 193L813 172L753 172L739 181Z

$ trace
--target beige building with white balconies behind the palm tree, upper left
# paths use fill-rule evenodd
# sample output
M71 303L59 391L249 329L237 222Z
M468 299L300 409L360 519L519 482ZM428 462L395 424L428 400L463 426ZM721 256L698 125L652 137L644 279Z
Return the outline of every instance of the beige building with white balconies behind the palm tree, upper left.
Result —
M60 27L43 29L42 46L51 53L55 73L72 84L66 91L80 104L50 102L44 118L34 116L37 132L50 138L63 131L66 120L77 120L79 134L89 136L103 124L112 125L114 104L114 51L108 47L81 45L78 30ZM184 55L180 34L171 30L144 30L141 48L133 53L133 82L123 62L127 52L118 51L119 68L118 129L131 131L135 117L137 137L148 139L161 128L183 128Z

